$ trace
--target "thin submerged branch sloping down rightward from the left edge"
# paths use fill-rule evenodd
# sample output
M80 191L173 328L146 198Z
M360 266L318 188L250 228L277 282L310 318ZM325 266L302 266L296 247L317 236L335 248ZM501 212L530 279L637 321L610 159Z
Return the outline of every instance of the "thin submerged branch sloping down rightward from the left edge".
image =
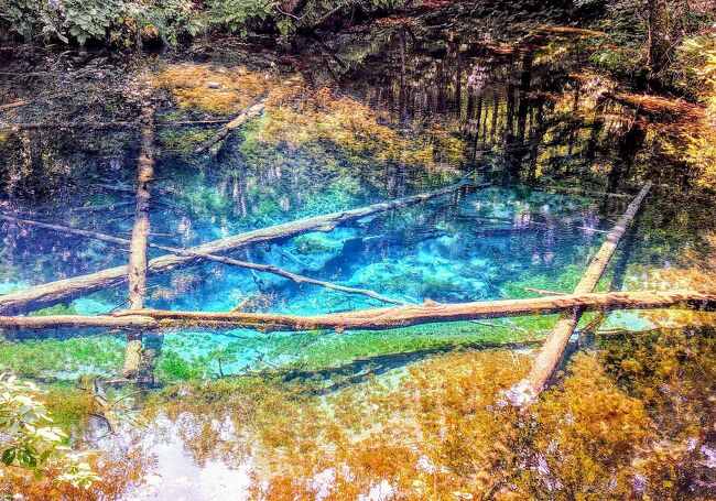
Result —
M26 226L33 226L33 227L36 227L36 228L43 228L43 229L47 229L50 231L55 231L55 232L58 232L58 233L76 235L78 237L84 237L84 238L88 238L88 239L93 239L93 240L101 240L101 241L107 241L107 242L110 242L110 243L118 243L120 246L131 246L131 240L128 240L126 238L112 237L111 235L100 233L100 232L97 232L97 231L82 230L82 229L77 229L77 228L70 228L70 227L67 227L67 226L51 225L51 224L47 224L47 222L34 221L34 220L31 220L31 219L21 219L21 218L17 218L17 217L12 217L12 216L4 216L4 215L0 215L0 219L6 220L6 221L10 221L10 222L14 222L14 224L18 224L18 225L26 225ZM175 248L175 247L162 246L162 244L159 244L159 243L148 242L147 244L149 247L153 248L153 249L163 250L163 251L176 254L176 255L186 255L186 257L189 257L189 258L202 258L202 259L206 259L207 261L215 261L215 262L219 262L219 263L223 263L223 264L228 264L230 266L246 268L246 269L249 269L249 270L257 270L257 271L261 271L261 272L264 272L264 273L271 273L271 274L274 274L274 275L282 276L284 279L291 280L291 281L293 281L295 283L299 283L299 284L305 283L305 284L310 284L310 285L316 285L316 286L319 286L319 287L332 288L332 290L335 290L335 291L345 292L347 294L360 294L360 295L368 296L368 297L371 297L373 299L378 299L378 301L381 301L383 303L389 303L389 304L405 304L404 301L394 299L392 297L383 296L381 294L378 294L375 291L370 291L370 290L367 290L367 288L348 287L348 286L345 286L345 285L334 284L332 282L325 282L325 281L321 281L321 280L316 280L316 279L311 279L310 276L304 276L304 275L301 275L301 274L297 274L297 273L292 273L290 271L281 269L279 266L273 266L273 265L269 265L269 264L252 263L252 262L248 262L248 261L240 261L238 259L226 258L224 255L215 255L215 254L209 254L209 253L206 253L206 252L196 252L196 251L193 251L193 250L189 250L189 249L178 249L178 248Z

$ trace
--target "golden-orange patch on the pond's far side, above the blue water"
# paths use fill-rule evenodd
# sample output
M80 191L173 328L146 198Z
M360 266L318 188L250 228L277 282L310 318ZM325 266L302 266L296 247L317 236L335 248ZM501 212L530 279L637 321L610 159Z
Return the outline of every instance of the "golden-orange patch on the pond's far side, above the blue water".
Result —
M251 132L263 145L333 144L350 161L365 162L369 155L437 170L459 164L465 152L462 139L437 126L424 135L402 137L384 124L387 113L329 88L315 91L297 75L184 63L156 74L154 84L167 89L182 109L220 115L236 115L264 96L264 117ZM330 156L330 151L324 146L318 153Z

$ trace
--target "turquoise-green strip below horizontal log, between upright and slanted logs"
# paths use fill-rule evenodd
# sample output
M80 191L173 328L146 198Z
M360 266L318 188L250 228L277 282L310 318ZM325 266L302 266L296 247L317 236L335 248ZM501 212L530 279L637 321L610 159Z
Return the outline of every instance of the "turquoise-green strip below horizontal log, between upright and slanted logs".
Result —
M220 373L231 375L247 369L338 373L361 366L370 372L400 367L428 353L501 345L531 347L553 323L553 316L524 317L488 325L455 323L386 333L247 333L236 340L199 333L169 335L156 361L156 377L172 383L214 379Z

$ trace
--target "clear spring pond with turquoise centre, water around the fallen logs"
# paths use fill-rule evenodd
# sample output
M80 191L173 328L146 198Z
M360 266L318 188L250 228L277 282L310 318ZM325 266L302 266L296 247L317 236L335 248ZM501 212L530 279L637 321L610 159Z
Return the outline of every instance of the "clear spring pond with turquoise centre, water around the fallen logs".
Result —
M290 56L231 41L193 47L182 58L24 54L8 61L10 70L0 76L3 99L36 99L2 117L8 129L0 132L0 206L17 218L129 238L138 129L82 124L135 120L149 86L158 120L152 242L192 248L430 192L469 175L489 185L228 255L406 303L533 297L539 294L527 288L571 291L606 231L651 179L657 186L599 290L713 285L713 196L691 190L673 168L675 161L654 145L663 139L663 117L614 98L615 83L584 70L587 43L578 30L520 24L508 31L426 17L410 29L384 22L329 42L306 41ZM57 76L53 66L43 74L58 57L72 70ZM220 126L171 124L230 119L261 96L268 96L264 113L205 154L193 151ZM64 127L41 127L47 121ZM13 123L37 127L13 129ZM129 255L126 247L100 240L12 221L0 226L2 294L126 264ZM150 249L150 258L162 253ZM126 301L122 284L31 315L95 315L122 308ZM147 306L312 315L386 304L204 262L151 275ZM625 360L639 350L659 351L662 336L684 335L684 315L612 313L599 327L609 334L598 330L587 348ZM692 328L680 342L696 342L686 358L703 362L699 357L713 356L712 319L692 317L699 339ZM434 374L435 384L447 385L441 363L460 373L459 357L478 357L470 360L482 372L468 379L495 377L496 384L519 379L554 319L341 334L175 329L144 338L159 350L155 383L129 396L111 383L122 369L121 331L7 331L0 367L46 384L59 401L84 402L93 385L122 399L111 410L113 434L106 433L107 420L84 414L80 403L63 422L78 443L102 453L101 475L115 487L93 494L100 499L391 499L399 492L427 499L422 477L376 465L346 472L338 464L348 468L349 460L327 458L340 456L340 444L356 444L378 429L379 417L361 413L383 414L378 409L409 374ZM626 355L615 340L631 339L625 331L638 336L627 342ZM680 377L687 379L693 367L680 360ZM517 364L511 375L505 372L510 363ZM641 391L622 381L620 362L608 367L620 368L607 372L625 383L625 392ZM688 372L706 381L704 393L688 393L686 405L696 414L698 399L713 384L713 363L702 369ZM361 410L344 401L351 394L358 402L351 405L365 404ZM647 407L655 421L671 409L653 402ZM341 416L340 409L354 414ZM672 438L688 433L664 426ZM406 438L413 449L426 429ZM440 455L413 453L419 458L413 462L423 465L415 471L440 476L434 466ZM465 451L453 445L441 454L452 464ZM412 460L400 458L395 461ZM605 461L618 466L617 459ZM449 486L458 494L464 489L471 499L469 478L465 470L454 473L441 489ZM345 487L351 482L356 492ZM599 492L616 499L638 491L633 478L617 484ZM706 489L698 486L697 492ZM551 497L550 488L541 489ZM561 492L558 486L552 490ZM562 495L553 499L568 499Z

